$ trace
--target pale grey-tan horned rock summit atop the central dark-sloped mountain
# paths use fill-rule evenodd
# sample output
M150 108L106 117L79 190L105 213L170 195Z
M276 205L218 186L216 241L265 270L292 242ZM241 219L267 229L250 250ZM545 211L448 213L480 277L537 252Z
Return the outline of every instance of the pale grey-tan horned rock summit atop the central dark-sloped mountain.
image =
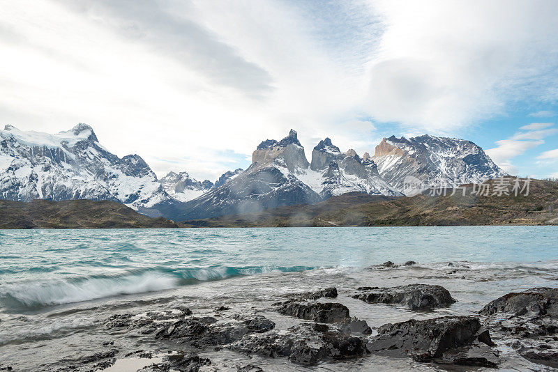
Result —
M275 162L278 166L286 166L290 172L308 168L310 163L306 160L304 148L295 130L290 130L289 135L281 141L267 139L259 144L252 153L252 166L248 171L253 171L254 168L261 169L271 162Z

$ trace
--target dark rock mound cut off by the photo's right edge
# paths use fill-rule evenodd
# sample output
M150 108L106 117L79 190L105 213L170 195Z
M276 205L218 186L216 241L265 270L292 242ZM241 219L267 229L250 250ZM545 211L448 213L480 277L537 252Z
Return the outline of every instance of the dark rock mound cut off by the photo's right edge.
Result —
M531 288L523 292L508 293L487 304L480 313L558 317L558 288Z

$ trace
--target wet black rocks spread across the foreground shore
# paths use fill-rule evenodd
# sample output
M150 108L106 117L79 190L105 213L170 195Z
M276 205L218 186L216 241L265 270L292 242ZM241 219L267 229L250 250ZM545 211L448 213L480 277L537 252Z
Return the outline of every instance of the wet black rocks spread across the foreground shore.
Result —
M389 265L388 265L389 266ZM409 358L441 369L467 366L495 369L501 365L502 348L511 348L541 369L558 368L558 288L531 288L508 293L469 316L436 316L409 319L371 327L352 316L339 297L367 304L432 311L451 307L456 300L437 285L360 287L348 293L322 288L287 293L271 307L250 307L239 312L227 307L203 313L188 303L173 303L162 311L119 313L102 327L114 337L142 337L153 350L125 350L114 342L105 351L62 359L47 371L98 371L111 369L121 359L140 358L138 371L220 371L207 352L235 352L248 358L282 358L293 366L362 360L382 356ZM270 314L292 321L278 329ZM161 353L160 345L166 346ZM150 362L152 359L153 362ZM250 360L250 359L248 359ZM255 360L255 359L254 359ZM264 371L257 362L229 365L229 370ZM10 370L0 364L0 370ZM334 368L334 367L333 367Z

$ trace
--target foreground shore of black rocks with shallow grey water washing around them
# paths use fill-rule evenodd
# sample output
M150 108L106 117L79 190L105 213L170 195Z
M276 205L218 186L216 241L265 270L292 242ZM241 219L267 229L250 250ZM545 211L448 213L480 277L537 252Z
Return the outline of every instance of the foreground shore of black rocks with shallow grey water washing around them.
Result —
M50 351L50 362L35 364L34 370L43 371L255 372L308 371L310 366L317 371L345 371L379 365L417 371L446 371L452 366L468 366L467 370L520 366L538 371L553 366L558 341L552 339L556 315L551 309L558 309L558 288L541 295L528 284L509 284L497 293L481 296L478 302L471 293L478 279L470 276L485 275L483 270L448 263L446 269L438 265L432 278L418 279L428 274L415 265L411 261L387 262L349 270L349 281L338 287L317 285L338 281L335 269L236 277L190 288L65 304L28 313L21 324L73 324L96 314L93 323L78 322L76 331L61 328L60 334L45 339L50 341L42 341L56 348L57 339L68 339L67 343L86 337L83 342L90 345L89 352L73 354L61 349L52 355L55 351ZM493 270L493 274L505 272ZM356 283L350 279L355 274L361 278ZM405 277L403 283L407 284L393 278L394 274ZM390 277L381 287L362 286ZM435 284L441 280L443 286ZM414 284L423 281L430 284ZM460 289L469 282L468 288ZM277 285L273 293L266 290L271 283ZM499 287L497 283L489 286ZM508 288L515 290L509 292ZM521 300L514 301L518 296ZM547 311L538 311L540 304ZM21 322L20 317L3 314L2 323ZM502 323L504 318L506 323ZM463 336L462 327L472 333ZM443 338L426 336L432 332L458 337L458 347L446 345ZM37 337L34 339L44 339ZM29 346L29 341L22 346ZM76 346L80 348L80 344ZM394 344L402 347L393 348ZM544 348L538 347L543 344ZM3 341L0 350L6 347L19 350L17 344ZM6 350L8 361L13 361L12 352ZM0 368L7 366L14 371L33 370L0 364Z

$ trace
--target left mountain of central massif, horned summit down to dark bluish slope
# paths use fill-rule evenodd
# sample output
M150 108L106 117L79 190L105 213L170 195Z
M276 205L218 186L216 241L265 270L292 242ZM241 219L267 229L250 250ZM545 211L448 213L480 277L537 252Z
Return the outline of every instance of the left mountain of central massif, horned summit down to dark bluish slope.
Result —
M321 200L316 192L295 176L299 169L306 169L309 164L294 130L281 141L262 142L254 151L252 160L246 171L188 202L179 218L259 212Z

